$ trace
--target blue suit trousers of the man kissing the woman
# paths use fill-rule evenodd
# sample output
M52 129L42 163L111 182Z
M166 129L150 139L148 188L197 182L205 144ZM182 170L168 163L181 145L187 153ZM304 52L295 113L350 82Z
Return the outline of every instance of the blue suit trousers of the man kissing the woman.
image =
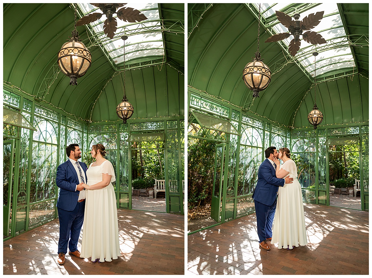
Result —
M276 198L271 206L266 206L255 200L254 207L256 208L259 242L263 242L265 239L273 236L272 226L276 209Z

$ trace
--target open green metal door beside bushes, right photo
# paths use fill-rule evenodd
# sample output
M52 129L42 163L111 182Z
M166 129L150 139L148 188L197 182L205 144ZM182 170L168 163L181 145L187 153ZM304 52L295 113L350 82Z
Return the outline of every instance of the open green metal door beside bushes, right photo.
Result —
M213 191L211 201L211 218L220 222L222 184L224 183L225 143L216 146L216 158L214 164Z

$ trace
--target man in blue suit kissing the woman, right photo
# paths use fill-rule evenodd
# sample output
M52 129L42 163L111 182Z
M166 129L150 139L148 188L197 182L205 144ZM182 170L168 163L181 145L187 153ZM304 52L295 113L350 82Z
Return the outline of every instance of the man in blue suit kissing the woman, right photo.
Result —
M254 208L256 209L257 233L259 237L260 248L270 250L267 240L271 240L273 235L272 225L276 209L276 195L279 187L286 183L292 183L293 178L277 178L276 164L273 158L278 159L278 151L275 147L269 147L265 150L266 159L261 163L258 169L258 181L252 198Z

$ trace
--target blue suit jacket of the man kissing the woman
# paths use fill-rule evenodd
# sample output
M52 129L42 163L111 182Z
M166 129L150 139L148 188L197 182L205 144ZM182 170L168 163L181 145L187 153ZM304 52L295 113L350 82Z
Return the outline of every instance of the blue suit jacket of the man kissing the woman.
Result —
M253 200L271 206L278 193L279 186L283 186L284 179L277 178L275 168L266 158L258 169L258 181L252 195Z

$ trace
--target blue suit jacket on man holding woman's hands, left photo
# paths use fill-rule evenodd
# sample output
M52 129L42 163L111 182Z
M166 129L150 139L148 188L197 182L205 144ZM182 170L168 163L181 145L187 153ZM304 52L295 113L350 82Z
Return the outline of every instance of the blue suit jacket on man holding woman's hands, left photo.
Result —
M80 161L79 164L81 170L84 172L86 183L87 165ZM62 208L62 210L73 211L76 207L77 201L79 200L80 191L76 190L76 185L80 182L77 177L74 165L72 165L70 159L58 166L57 177L55 181L57 186L60 188L60 193L58 194L57 200L57 207Z

